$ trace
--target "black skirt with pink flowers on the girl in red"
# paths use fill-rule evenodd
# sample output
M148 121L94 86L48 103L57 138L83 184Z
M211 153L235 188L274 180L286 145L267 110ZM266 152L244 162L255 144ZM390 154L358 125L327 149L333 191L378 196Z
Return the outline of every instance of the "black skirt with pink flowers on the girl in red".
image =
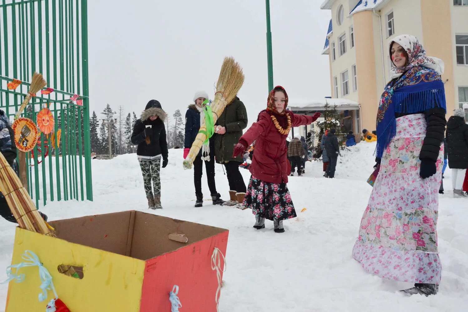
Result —
M254 215L271 221L297 217L285 182L268 183L251 176L242 204Z

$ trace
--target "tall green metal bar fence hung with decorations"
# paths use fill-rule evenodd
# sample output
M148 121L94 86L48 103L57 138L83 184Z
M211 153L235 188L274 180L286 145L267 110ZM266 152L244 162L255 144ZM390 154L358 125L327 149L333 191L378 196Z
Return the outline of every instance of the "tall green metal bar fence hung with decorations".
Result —
M1 0L0 108L13 121L32 74L42 73L54 91L33 97L22 113L36 122L49 106L60 129L60 148L41 134L26 153L29 194L48 200L93 199L89 138L87 0ZM22 80L15 90L7 83ZM82 106L70 102L79 94ZM49 155L46 156L47 149ZM40 163L38 163L40 162Z

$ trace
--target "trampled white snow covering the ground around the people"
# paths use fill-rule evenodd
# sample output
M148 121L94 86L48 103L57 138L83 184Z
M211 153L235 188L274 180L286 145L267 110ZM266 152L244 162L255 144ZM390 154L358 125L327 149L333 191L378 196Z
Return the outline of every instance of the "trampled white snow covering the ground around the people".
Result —
M194 208L193 172L182 168L182 149L171 150L168 167L161 169L164 209L154 213L229 229L222 312L467 311L468 199L452 198L450 169L439 204L443 272L437 296L403 297L397 290L411 284L368 274L351 258L372 189L366 180L373 170L374 148L374 143L360 143L344 152L336 179L322 177L322 162L307 162L305 176L291 177L288 183L298 218L285 221L282 234L273 232L271 221L264 230L253 229L250 210L213 206L205 177L205 206ZM133 209L153 212L146 208L135 154L92 160L92 165L94 202L48 203L41 210L51 220ZM247 183L248 170L241 172ZM227 178L220 165L216 183L227 199ZM300 212L303 208L307 210ZM0 269L11 262L14 233L15 225L1 219ZM0 307L6 295L7 284L2 284Z

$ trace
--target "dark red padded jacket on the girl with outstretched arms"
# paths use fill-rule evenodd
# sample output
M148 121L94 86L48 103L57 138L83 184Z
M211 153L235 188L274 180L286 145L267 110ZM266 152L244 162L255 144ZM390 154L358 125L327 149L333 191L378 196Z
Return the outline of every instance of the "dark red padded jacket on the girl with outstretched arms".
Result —
M294 115L290 110L287 114L291 116L291 127L310 124L317 119L313 116ZM286 157L286 137L275 128L268 111L260 112L257 122L239 140L245 146L255 140L254 157L249 167L252 176L269 183L288 182L291 164Z

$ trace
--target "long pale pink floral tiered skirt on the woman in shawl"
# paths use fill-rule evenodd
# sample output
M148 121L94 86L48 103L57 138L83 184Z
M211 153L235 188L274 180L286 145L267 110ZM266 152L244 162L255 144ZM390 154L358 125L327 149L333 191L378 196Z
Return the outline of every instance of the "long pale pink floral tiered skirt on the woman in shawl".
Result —
M383 153L352 256L382 278L439 284L436 227L444 151L442 145L437 173L421 179L425 132L423 114L396 119L396 135Z

